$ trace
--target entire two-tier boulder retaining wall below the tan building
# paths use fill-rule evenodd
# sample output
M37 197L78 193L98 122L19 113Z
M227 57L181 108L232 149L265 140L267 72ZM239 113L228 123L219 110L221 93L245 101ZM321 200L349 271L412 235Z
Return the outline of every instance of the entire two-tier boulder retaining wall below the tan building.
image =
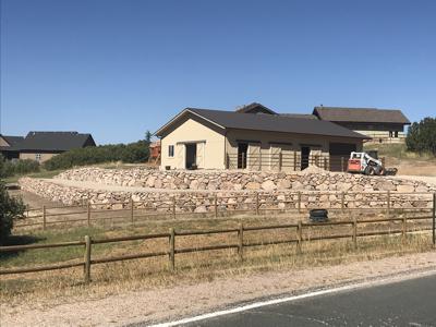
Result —
M435 186L423 182L324 171L284 174L85 168L66 171L58 178L116 185L146 185L152 189L129 192L129 187L125 187L125 192L105 192L63 186L57 184L56 180L50 182L29 178L21 179L20 184L25 191L63 204L82 204L89 201L94 207L122 208L126 207L132 198L136 208L171 211L172 201L175 199L178 211L196 213L213 211L215 196L220 210L253 209L256 193L259 194L261 209L298 208L299 197L302 208L340 208L342 192L346 208L387 207L386 191L390 191L392 208L421 208L432 206L431 193L436 191ZM210 189L210 185L214 187ZM159 190L154 190L157 186L160 186Z

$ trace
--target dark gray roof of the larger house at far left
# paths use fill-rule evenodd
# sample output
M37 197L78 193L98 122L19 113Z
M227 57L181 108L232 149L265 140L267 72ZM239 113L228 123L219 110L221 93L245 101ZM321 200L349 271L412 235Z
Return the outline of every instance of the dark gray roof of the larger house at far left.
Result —
M29 132L20 145L20 149L65 152L94 145L95 142L90 134L77 132Z

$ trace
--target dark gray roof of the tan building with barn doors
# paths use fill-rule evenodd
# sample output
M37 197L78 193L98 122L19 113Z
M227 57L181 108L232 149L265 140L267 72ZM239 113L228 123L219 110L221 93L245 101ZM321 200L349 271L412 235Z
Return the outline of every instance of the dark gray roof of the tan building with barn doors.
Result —
M193 112L194 114L199 116L223 129L315 134L364 140L371 138L328 121L290 118L279 114L241 114L233 111L198 108L186 108L173 120L159 129L156 132L156 135L161 135L162 132L172 124L172 122L177 121L179 117L186 112Z

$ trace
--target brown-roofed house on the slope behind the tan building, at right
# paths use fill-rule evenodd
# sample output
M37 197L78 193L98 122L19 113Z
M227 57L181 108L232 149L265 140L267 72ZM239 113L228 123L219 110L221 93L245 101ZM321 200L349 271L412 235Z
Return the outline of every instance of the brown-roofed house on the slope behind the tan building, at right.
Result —
M372 137L371 142L402 143L409 119L401 110L377 108L315 107L313 114Z

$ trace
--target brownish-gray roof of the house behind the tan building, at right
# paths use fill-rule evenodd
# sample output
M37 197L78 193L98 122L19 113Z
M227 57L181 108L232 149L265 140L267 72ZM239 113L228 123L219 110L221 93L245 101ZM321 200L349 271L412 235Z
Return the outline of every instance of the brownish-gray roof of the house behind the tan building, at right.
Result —
M337 122L386 122L410 124L398 109L315 107L313 114L322 120Z

